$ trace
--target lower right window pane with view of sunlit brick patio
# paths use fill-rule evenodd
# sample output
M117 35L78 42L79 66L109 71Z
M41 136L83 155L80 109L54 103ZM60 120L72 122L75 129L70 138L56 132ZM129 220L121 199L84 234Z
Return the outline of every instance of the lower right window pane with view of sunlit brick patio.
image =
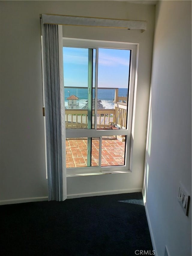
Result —
M125 164L126 136L102 136L101 166Z

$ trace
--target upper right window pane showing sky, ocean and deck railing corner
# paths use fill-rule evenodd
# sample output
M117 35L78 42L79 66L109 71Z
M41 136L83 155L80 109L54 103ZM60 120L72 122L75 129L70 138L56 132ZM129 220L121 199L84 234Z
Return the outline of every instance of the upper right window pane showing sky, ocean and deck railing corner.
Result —
M97 129L126 129L130 50L99 48Z

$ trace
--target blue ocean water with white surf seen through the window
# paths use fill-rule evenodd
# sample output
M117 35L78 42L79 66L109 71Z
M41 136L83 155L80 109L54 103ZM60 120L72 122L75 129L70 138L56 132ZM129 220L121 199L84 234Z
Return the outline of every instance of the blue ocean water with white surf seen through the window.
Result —
M93 95L95 94L93 90ZM126 97L128 94L127 88L119 88L118 96ZM88 99L88 89L85 88L64 88L64 98L65 98L65 107L67 108L69 95L75 95L79 99L77 103L79 103L79 108L82 108L86 105L86 101ZM98 99L101 100L101 104L105 107L105 109L113 109L114 108L114 99L115 99L115 89L98 89Z

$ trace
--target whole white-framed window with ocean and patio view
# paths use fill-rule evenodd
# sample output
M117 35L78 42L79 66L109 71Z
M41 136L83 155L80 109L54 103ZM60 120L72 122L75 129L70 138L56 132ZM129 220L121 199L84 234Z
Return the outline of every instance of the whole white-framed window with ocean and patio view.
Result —
M136 45L64 38L63 60L67 174L130 171Z

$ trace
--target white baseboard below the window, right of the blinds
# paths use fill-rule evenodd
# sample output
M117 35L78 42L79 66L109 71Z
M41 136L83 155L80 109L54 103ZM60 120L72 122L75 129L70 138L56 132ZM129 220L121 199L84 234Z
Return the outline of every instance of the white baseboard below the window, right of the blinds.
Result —
M99 191L99 192L90 192L90 193L82 193L82 194L69 194L69 195L67 195L67 199L79 198L79 197L93 197L93 196L104 196L104 195L113 195L113 194L134 193L134 192L141 192L141 188Z

